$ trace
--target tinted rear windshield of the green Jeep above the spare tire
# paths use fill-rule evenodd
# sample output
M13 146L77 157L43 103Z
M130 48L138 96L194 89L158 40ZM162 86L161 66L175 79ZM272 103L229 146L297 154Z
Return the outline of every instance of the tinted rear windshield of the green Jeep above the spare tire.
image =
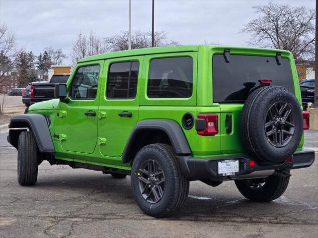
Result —
M212 61L214 102L244 102L261 79L295 93L288 59L278 65L275 57L230 55L227 63L223 55L214 55Z

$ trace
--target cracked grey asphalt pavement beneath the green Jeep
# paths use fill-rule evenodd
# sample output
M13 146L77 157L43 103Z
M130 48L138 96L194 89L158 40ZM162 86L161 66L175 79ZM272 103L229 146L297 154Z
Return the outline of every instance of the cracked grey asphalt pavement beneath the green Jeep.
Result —
M45 161L36 185L20 186L6 134L0 134L1 238L318 237L317 160L292 171L286 192L273 202L248 201L233 181L218 187L194 181L178 216L156 219L135 204L129 177ZM305 147L317 146L318 131L306 131Z

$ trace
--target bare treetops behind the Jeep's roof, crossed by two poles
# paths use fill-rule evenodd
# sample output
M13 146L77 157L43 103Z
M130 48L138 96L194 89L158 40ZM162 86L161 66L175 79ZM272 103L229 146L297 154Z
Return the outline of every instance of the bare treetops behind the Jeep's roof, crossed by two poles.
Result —
M117 35L106 37L104 39L108 51L128 50L128 31L122 31ZM179 43L168 41L167 33L164 31L155 32L155 47L175 46ZM131 49L140 49L151 47L151 32L135 31L132 34Z

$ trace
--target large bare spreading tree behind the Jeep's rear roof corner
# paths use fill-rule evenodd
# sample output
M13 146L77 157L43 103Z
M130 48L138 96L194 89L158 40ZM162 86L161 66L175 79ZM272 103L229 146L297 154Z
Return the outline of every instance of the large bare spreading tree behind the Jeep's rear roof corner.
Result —
M250 45L288 50L296 62L315 58L315 9L272 2L253 9L260 16L241 30L252 34Z

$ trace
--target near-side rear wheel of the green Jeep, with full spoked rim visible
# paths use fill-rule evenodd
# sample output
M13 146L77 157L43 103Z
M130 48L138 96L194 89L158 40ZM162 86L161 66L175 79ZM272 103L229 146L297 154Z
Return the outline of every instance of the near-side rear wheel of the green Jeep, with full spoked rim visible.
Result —
M157 218L177 213L189 193L189 179L181 173L174 152L167 144L147 145L137 153L131 185L139 208Z

